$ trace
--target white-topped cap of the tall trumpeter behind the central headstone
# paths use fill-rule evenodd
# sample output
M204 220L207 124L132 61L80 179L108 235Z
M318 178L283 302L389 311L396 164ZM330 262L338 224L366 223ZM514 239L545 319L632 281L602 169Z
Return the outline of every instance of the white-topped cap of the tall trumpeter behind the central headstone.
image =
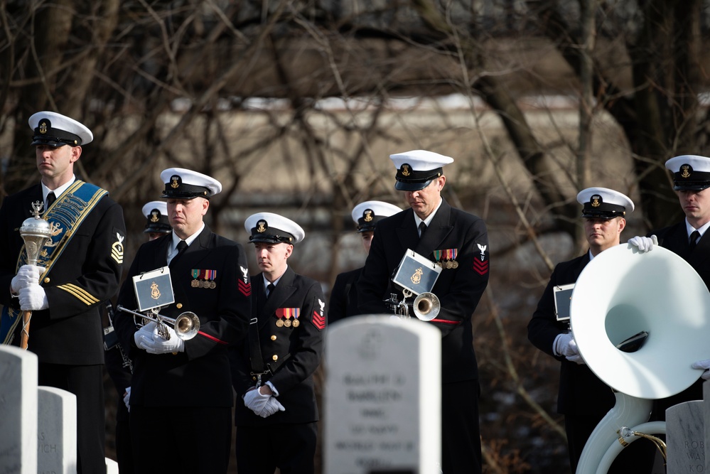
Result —
M453 163L453 158L434 151L412 150L389 155L397 168L397 183L400 191L417 191L426 188L431 180L443 174L442 166Z

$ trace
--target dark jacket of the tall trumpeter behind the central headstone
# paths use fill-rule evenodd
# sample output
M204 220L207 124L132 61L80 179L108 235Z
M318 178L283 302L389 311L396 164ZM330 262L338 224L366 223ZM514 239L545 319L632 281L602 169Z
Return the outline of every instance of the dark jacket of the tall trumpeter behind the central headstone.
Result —
M391 314L383 300L389 293L399 293L402 299L401 291L391 291L390 279L407 249L432 261L435 250L457 250L458 268L443 269L432 290L441 301L441 313L431 324L441 330L442 382L478 379L471 316L488 285L490 250L485 222L452 208L446 200L421 240L411 208L377 222L365 269L357 281L361 314Z

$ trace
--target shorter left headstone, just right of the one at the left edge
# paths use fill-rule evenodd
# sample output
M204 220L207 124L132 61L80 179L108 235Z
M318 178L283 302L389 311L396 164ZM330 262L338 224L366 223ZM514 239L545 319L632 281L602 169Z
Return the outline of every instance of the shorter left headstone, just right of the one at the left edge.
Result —
M77 472L77 397L38 387L37 465L40 473Z

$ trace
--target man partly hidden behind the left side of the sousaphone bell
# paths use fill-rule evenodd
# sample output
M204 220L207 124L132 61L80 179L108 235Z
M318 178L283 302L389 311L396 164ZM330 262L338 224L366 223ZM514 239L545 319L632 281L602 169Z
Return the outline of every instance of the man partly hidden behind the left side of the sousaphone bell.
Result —
M620 243L626 215L634 204L628 196L608 188L586 188L577 194L589 249L580 257L557 264L527 325L527 337L542 352L561 361L557 413L564 415L569 463L574 473L584 445L597 424L615 405L613 390L584 363L569 332L569 321L556 317L554 289L574 284L591 259ZM569 304L569 303L568 303ZM652 449L653 446L648 443ZM610 473L641 472L650 468L653 453L636 442L614 461Z

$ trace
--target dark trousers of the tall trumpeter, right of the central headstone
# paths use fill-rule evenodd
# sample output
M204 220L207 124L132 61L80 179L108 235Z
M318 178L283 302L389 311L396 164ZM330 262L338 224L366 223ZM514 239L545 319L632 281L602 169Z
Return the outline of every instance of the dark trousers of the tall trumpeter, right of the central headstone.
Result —
M443 474L481 472L478 380L441 386L441 467Z

